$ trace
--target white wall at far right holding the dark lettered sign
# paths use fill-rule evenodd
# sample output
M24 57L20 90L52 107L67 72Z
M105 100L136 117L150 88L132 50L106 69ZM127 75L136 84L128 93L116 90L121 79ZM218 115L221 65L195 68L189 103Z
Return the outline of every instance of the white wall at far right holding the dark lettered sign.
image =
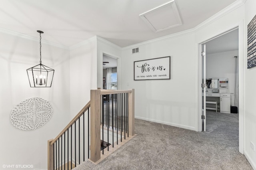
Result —
M255 11L256 1L246 0L245 4L245 42L244 48L247 49L247 25L256 15ZM246 66L247 50L244 51L244 59ZM244 154L250 161L251 165L256 169L256 151L250 148L250 142L253 142L254 147L256 147L256 111L255 111L255 101L256 101L256 67L247 69L245 68L245 117L244 117L244 128L245 128L245 139L244 139ZM256 150L256 148L255 148Z

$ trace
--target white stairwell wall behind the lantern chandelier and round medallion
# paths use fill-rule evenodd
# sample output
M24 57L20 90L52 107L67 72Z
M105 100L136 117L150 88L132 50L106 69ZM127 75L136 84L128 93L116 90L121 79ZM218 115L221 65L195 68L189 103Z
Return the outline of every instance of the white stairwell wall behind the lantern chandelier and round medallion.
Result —
M42 36L43 37L43 36ZM47 140L56 137L69 119L69 51L42 40L42 64L55 69L51 88L31 88L26 69L40 61L39 38L28 40L0 33L0 165L33 165L47 169ZM44 126L19 130L10 122L10 112L20 102L42 97L53 107ZM61 121L60 121L61 120Z

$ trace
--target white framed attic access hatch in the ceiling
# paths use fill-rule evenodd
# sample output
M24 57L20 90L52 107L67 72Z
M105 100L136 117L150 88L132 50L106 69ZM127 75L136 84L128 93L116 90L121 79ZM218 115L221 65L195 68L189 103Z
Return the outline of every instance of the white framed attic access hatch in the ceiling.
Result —
M154 32L160 32L182 25L180 13L174 0L140 14L140 17Z

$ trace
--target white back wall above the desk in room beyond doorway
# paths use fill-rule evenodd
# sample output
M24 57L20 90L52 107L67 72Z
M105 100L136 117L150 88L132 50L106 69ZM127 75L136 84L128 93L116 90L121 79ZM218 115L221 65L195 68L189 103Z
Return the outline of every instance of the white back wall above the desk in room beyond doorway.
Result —
M228 78L230 104L234 106L235 66L238 50L206 54L206 78Z

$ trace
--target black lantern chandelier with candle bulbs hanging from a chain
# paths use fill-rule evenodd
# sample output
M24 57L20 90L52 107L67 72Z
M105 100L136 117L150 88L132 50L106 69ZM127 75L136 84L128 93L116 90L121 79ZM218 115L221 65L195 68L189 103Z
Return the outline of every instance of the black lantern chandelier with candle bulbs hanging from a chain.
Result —
M52 79L54 75L54 69L47 67L42 64L41 61L41 34L44 32L37 31L40 33L40 64L27 69L28 80L30 87L51 87Z

